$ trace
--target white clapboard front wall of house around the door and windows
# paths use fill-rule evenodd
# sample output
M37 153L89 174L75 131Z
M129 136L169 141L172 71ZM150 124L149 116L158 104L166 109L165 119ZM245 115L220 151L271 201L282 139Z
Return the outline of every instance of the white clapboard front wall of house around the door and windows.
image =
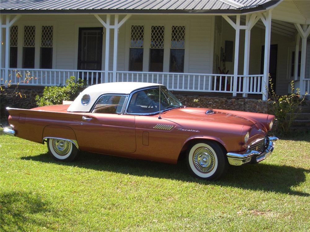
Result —
M101 16L105 21L105 16ZM124 16L120 16L121 20ZM165 25L165 49L170 49L171 25L186 25L186 43L185 54L187 61L186 72L193 73L211 73L210 51L211 51L211 23L212 16L187 16L184 20L183 16L177 15L133 15L118 32L118 51L117 51L117 70L128 70L128 45L127 41L130 39L130 33L126 31L127 24L132 21L140 22L138 24L152 25ZM173 23L172 23L173 22ZM174 23L176 22L176 23ZM111 24L114 24L114 17L111 17ZM99 21L93 15L80 15L79 17L73 15L25 15L17 21L16 25L23 27L23 25L36 25L36 33L40 33L42 25L54 25L54 47L53 53L55 55L55 69L77 69L78 62L78 28L87 27L102 27ZM149 30L149 28L148 28ZM104 70L105 59L105 34L106 30L103 28L103 61L102 69ZM21 36L21 35L19 35ZM149 43L149 37L144 38L144 43ZM114 29L110 29L110 45L109 45L109 70L113 70L113 48L114 48ZM39 49L39 45L38 48ZM127 50L127 51L126 51ZM166 68L169 69L169 55L170 52L166 51ZM146 54L147 55L147 54ZM20 58L21 59L21 58ZM38 59L39 60L39 59ZM148 59L146 59L148 60ZM20 62L21 63L21 62ZM148 67L148 65L147 65ZM169 70L164 70L169 71Z

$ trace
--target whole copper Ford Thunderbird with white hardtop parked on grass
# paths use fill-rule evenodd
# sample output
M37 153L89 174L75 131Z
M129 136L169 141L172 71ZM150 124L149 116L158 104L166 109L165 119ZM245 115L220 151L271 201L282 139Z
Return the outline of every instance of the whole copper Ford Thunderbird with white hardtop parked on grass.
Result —
M218 179L228 165L258 163L273 151L274 116L189 108L159 84L117 82L86 88L73 102L9 111L5 133L44 144L58 161L79 151L175 164Z

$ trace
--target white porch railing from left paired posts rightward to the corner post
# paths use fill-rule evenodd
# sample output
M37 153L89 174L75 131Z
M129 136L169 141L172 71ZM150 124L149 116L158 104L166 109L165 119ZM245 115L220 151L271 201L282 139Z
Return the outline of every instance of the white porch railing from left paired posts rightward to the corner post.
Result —
M116 80L125 82L160 82L169 90L232 93L233 78L233 75L205 73L154 73L117 71ZM263 75L238 75L237 77L237 93L262 94L262 87Z

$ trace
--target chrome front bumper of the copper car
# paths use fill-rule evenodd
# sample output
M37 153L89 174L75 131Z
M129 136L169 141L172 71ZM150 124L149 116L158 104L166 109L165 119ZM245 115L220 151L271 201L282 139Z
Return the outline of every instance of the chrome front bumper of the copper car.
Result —
M253 161L258 163L269 157L274 148L274 141L278 140L277 137L269 136L265 139L265 146L261 152L255 150L247 150L241 153L228 152L227 158L230 165L242 165Z

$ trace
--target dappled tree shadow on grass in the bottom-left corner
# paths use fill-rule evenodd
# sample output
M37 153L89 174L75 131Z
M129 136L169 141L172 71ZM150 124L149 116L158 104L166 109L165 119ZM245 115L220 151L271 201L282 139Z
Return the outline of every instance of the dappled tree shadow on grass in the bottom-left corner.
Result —
M18 191L0 194L0 230L28 231L26 225L57 229L53 217L57 213L50 204L37 193Z

